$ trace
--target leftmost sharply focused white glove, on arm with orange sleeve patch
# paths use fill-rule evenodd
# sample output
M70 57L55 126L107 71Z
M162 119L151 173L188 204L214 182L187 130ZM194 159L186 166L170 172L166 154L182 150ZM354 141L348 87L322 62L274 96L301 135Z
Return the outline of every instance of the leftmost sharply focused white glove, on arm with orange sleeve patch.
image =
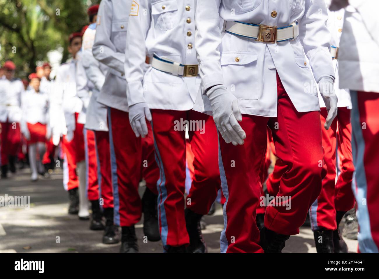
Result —
M129 107L129 122L137 138L140 135L142 138L147 136L146 119L147 121L152 119L146 102L136 103Z

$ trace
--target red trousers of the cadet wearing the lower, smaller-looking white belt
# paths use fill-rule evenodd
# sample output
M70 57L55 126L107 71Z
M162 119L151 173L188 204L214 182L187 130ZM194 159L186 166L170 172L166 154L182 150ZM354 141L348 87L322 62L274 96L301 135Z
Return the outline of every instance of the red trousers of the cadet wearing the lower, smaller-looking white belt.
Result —
M213 118L197 111L151 110L155 155L160 169L158 185L158 220L163 246L189 243L184 218L184 204L193 212L207 214L220 188L217 164L217 130ZM200 129L189 129L194 154L194 176L184 201L186 178L185 129L175 123L198 121ZM200 127L200 126L197 126Z

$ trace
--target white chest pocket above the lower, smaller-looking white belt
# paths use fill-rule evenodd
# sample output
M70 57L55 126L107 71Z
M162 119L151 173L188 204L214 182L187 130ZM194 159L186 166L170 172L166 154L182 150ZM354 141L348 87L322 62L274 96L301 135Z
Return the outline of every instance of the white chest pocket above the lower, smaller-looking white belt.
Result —
M161 31L174 28L179 22L177 0L164 0L152 4L151 15L155 26Z

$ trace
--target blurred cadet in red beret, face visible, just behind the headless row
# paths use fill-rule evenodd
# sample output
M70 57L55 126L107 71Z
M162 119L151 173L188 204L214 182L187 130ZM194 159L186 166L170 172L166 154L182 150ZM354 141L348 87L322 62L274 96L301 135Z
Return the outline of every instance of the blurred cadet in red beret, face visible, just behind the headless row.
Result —
M78 187L85 189L85 154L83 124L77 119L82 110L83 102L76 93L76 55L81 49L82 34L72 33L69 37L69 52L72 60L62 64L57 72L55 84L61 96L56 96L51 103L50 121L55 145L63 135L63 185L69 193L69 213L78 214L80 219L88 219L88 204L84 190L79 199ZM62 117L64 115L64 117ZM76 173L78 167L79 176ZM80 181L79 181L80 180Z

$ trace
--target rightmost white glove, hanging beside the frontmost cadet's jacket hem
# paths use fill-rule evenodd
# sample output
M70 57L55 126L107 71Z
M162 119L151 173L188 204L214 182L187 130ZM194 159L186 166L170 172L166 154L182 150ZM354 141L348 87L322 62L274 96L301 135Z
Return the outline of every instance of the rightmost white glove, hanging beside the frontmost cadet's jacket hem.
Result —
M329 130L334 118L337 116L337 102L338 98L334 92L334 81L330 77L323 77L318 82L321 97L323 97L328 115L324 127Z

